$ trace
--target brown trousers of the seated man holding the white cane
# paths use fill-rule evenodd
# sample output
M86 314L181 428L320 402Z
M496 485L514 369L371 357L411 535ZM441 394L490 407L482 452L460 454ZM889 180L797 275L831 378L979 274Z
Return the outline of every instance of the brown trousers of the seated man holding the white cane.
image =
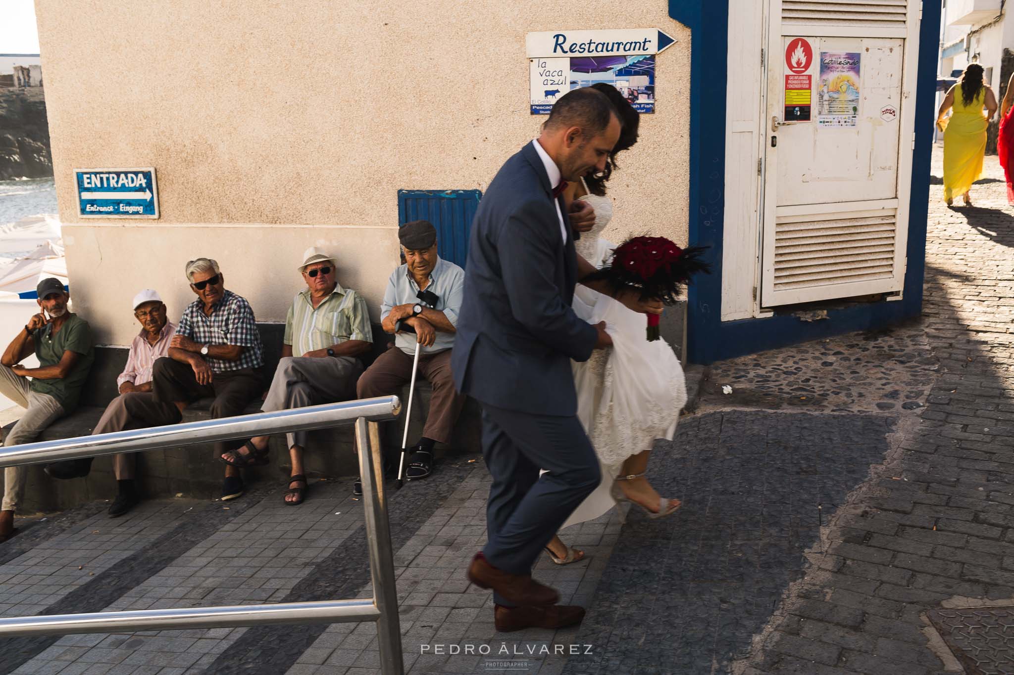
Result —
M391 347L359 376L356 394L360 399L401 394L402 387L412 382L412 359L397 347ZM426 418L423 435L438 443L446 443L464 405L464 397L454 389L450 349L435 354L420 354L419 374L433 386L430 414Z

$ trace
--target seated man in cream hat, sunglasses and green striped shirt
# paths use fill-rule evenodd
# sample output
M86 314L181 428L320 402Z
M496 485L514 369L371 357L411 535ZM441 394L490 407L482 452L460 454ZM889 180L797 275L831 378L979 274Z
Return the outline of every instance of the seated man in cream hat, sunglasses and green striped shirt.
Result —
M296 267L306 287L296 293L285 318L282 358L275 370L265 412L348 401L356 396L363 371L359 354L370 350L373 331L366 301L335 280L335 259L314 247ZM303 475L306 431L286 434L292 473L285 503L302 504L308 484ZM245 467L268 454L268 436L255 436L242 447L222 454L222 461Z

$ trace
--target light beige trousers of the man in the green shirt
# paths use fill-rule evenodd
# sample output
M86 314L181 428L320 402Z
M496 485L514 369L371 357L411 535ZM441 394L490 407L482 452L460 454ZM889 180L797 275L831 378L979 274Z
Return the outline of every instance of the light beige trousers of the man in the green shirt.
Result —
M30 443L46 427L63 417L63 406L56 399L49 394L32 392L28 378L14 374L6 365L0 365L0 394L24 408L24 415L7 434L5 446ZM3 505L0 508L4 511L16 510L24 499L24 467L3 470Z

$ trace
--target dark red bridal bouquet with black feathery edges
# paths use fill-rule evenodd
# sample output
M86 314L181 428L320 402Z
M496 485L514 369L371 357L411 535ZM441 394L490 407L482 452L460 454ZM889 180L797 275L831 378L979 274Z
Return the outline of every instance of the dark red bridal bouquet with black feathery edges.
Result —
M634 289L641 300L660 300L674 305L679 285L689 283L691 274L710 272L702 260L705 247L681 249L664 237L634 237L612 251L609 264L586 280L604 279L617 290ZM648 340L659 339L659 315L648 315Z

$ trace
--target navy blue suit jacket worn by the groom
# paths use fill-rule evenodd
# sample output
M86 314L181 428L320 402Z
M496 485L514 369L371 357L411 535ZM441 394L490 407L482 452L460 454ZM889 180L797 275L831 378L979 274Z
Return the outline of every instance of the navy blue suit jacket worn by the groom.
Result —
M561 212L569 231L562 201ZM587 360L598 333L571 309L574 241L561 241L550 178L530 143L490 183L470 239L451 354L455 386L498 408L574 415L570 361Z

